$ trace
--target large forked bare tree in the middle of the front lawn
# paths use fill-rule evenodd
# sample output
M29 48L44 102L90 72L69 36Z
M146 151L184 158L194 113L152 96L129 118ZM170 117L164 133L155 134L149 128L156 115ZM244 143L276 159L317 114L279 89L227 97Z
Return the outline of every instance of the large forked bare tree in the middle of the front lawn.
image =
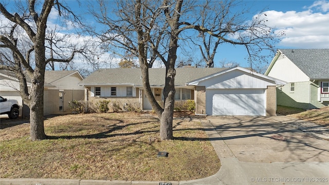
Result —
M249 47L249 43L255 39L252 36L244 35L251 34L260 38L260 31L268 31L265 28L240 26L242 22L235 22L234 25L226 24L224 30L211 28L215 27L215 24L208 22L218 20L220 14L215 14L215 17L199 23L200 15L197 12L202 8L205 9L204 6L209 6L208 2L206 5L202 5L202 2L183 0L137 0L136 2L118 0L114 10L106 9L109 7L106 6L106 1L100 0L99 5L100 9L93 9L92 13L99 23L107 26L107 29L99 35L100 38L109 45L130 51L138 57L144 93L160 119L160 139L162 140L173 139L174 79L179 43L193 40L191 38L186 40L187 38L184 38L185 35L182 33L191 30L201 35L209 34L222 42L244 45L252 58L251 51L254 51L254 48ZM209 15L209 17L211 16ZM230 23L229 20L227 23ZM232 39L226 37L229 34ZM266 42L266 39L262 38L261 41ZM261 43L261 41L259 41L260 46L267 44ZM166 66L166 76L163 77L166 79L163 88L164 108L161 108L155 100L149 83L150 57L148 57L148 53L150 50Z

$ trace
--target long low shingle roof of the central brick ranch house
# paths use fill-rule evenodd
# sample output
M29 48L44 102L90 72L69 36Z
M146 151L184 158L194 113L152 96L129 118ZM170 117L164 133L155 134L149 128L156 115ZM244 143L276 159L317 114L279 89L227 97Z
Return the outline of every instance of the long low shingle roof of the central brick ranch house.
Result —
M225 68L177 68L175 85L184 86L187 82L212 75ZM165 68L150 68L150 85L165 85ZM142 86L141 70L138 68L99 69L82 80L79 85L134 84Z

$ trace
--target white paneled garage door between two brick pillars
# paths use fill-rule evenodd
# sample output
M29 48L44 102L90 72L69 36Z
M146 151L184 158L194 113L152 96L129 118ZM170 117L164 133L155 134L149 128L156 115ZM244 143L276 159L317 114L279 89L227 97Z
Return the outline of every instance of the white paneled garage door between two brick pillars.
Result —
M266 116L265 89L207 89L208 115Z

